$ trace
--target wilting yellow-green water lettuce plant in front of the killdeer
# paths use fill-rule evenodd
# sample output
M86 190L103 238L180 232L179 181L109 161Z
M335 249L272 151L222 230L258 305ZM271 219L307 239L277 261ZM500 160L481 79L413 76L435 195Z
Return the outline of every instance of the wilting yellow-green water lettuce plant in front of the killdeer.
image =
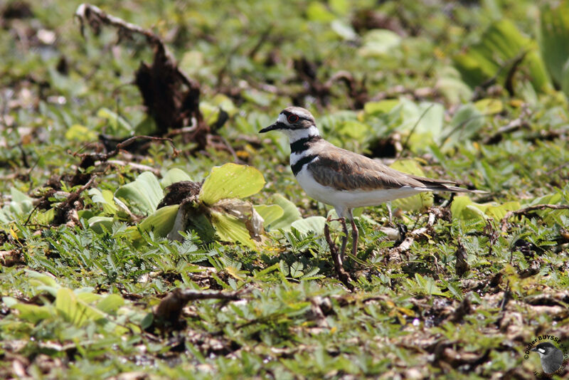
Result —
M214 167L203 184L191 182L180 169L166 173L161 183L147 171L117 189L112 198L110 191L90 191L92 201L102 204L112 216L93 216L89 225L96 228L106 223L108 229L124 212L146 216L137 226L127 228L127 235L137 243L142 242L144 233L181 240L181 231L193 230L204 243L218 238L255 248L263 231L263 217L271 222L283 213L277 205L255 208L243 200L257 194L264 184L260 171L238 164ZM159 206L164 198L163 187L166 191L181 191L179 201Z

